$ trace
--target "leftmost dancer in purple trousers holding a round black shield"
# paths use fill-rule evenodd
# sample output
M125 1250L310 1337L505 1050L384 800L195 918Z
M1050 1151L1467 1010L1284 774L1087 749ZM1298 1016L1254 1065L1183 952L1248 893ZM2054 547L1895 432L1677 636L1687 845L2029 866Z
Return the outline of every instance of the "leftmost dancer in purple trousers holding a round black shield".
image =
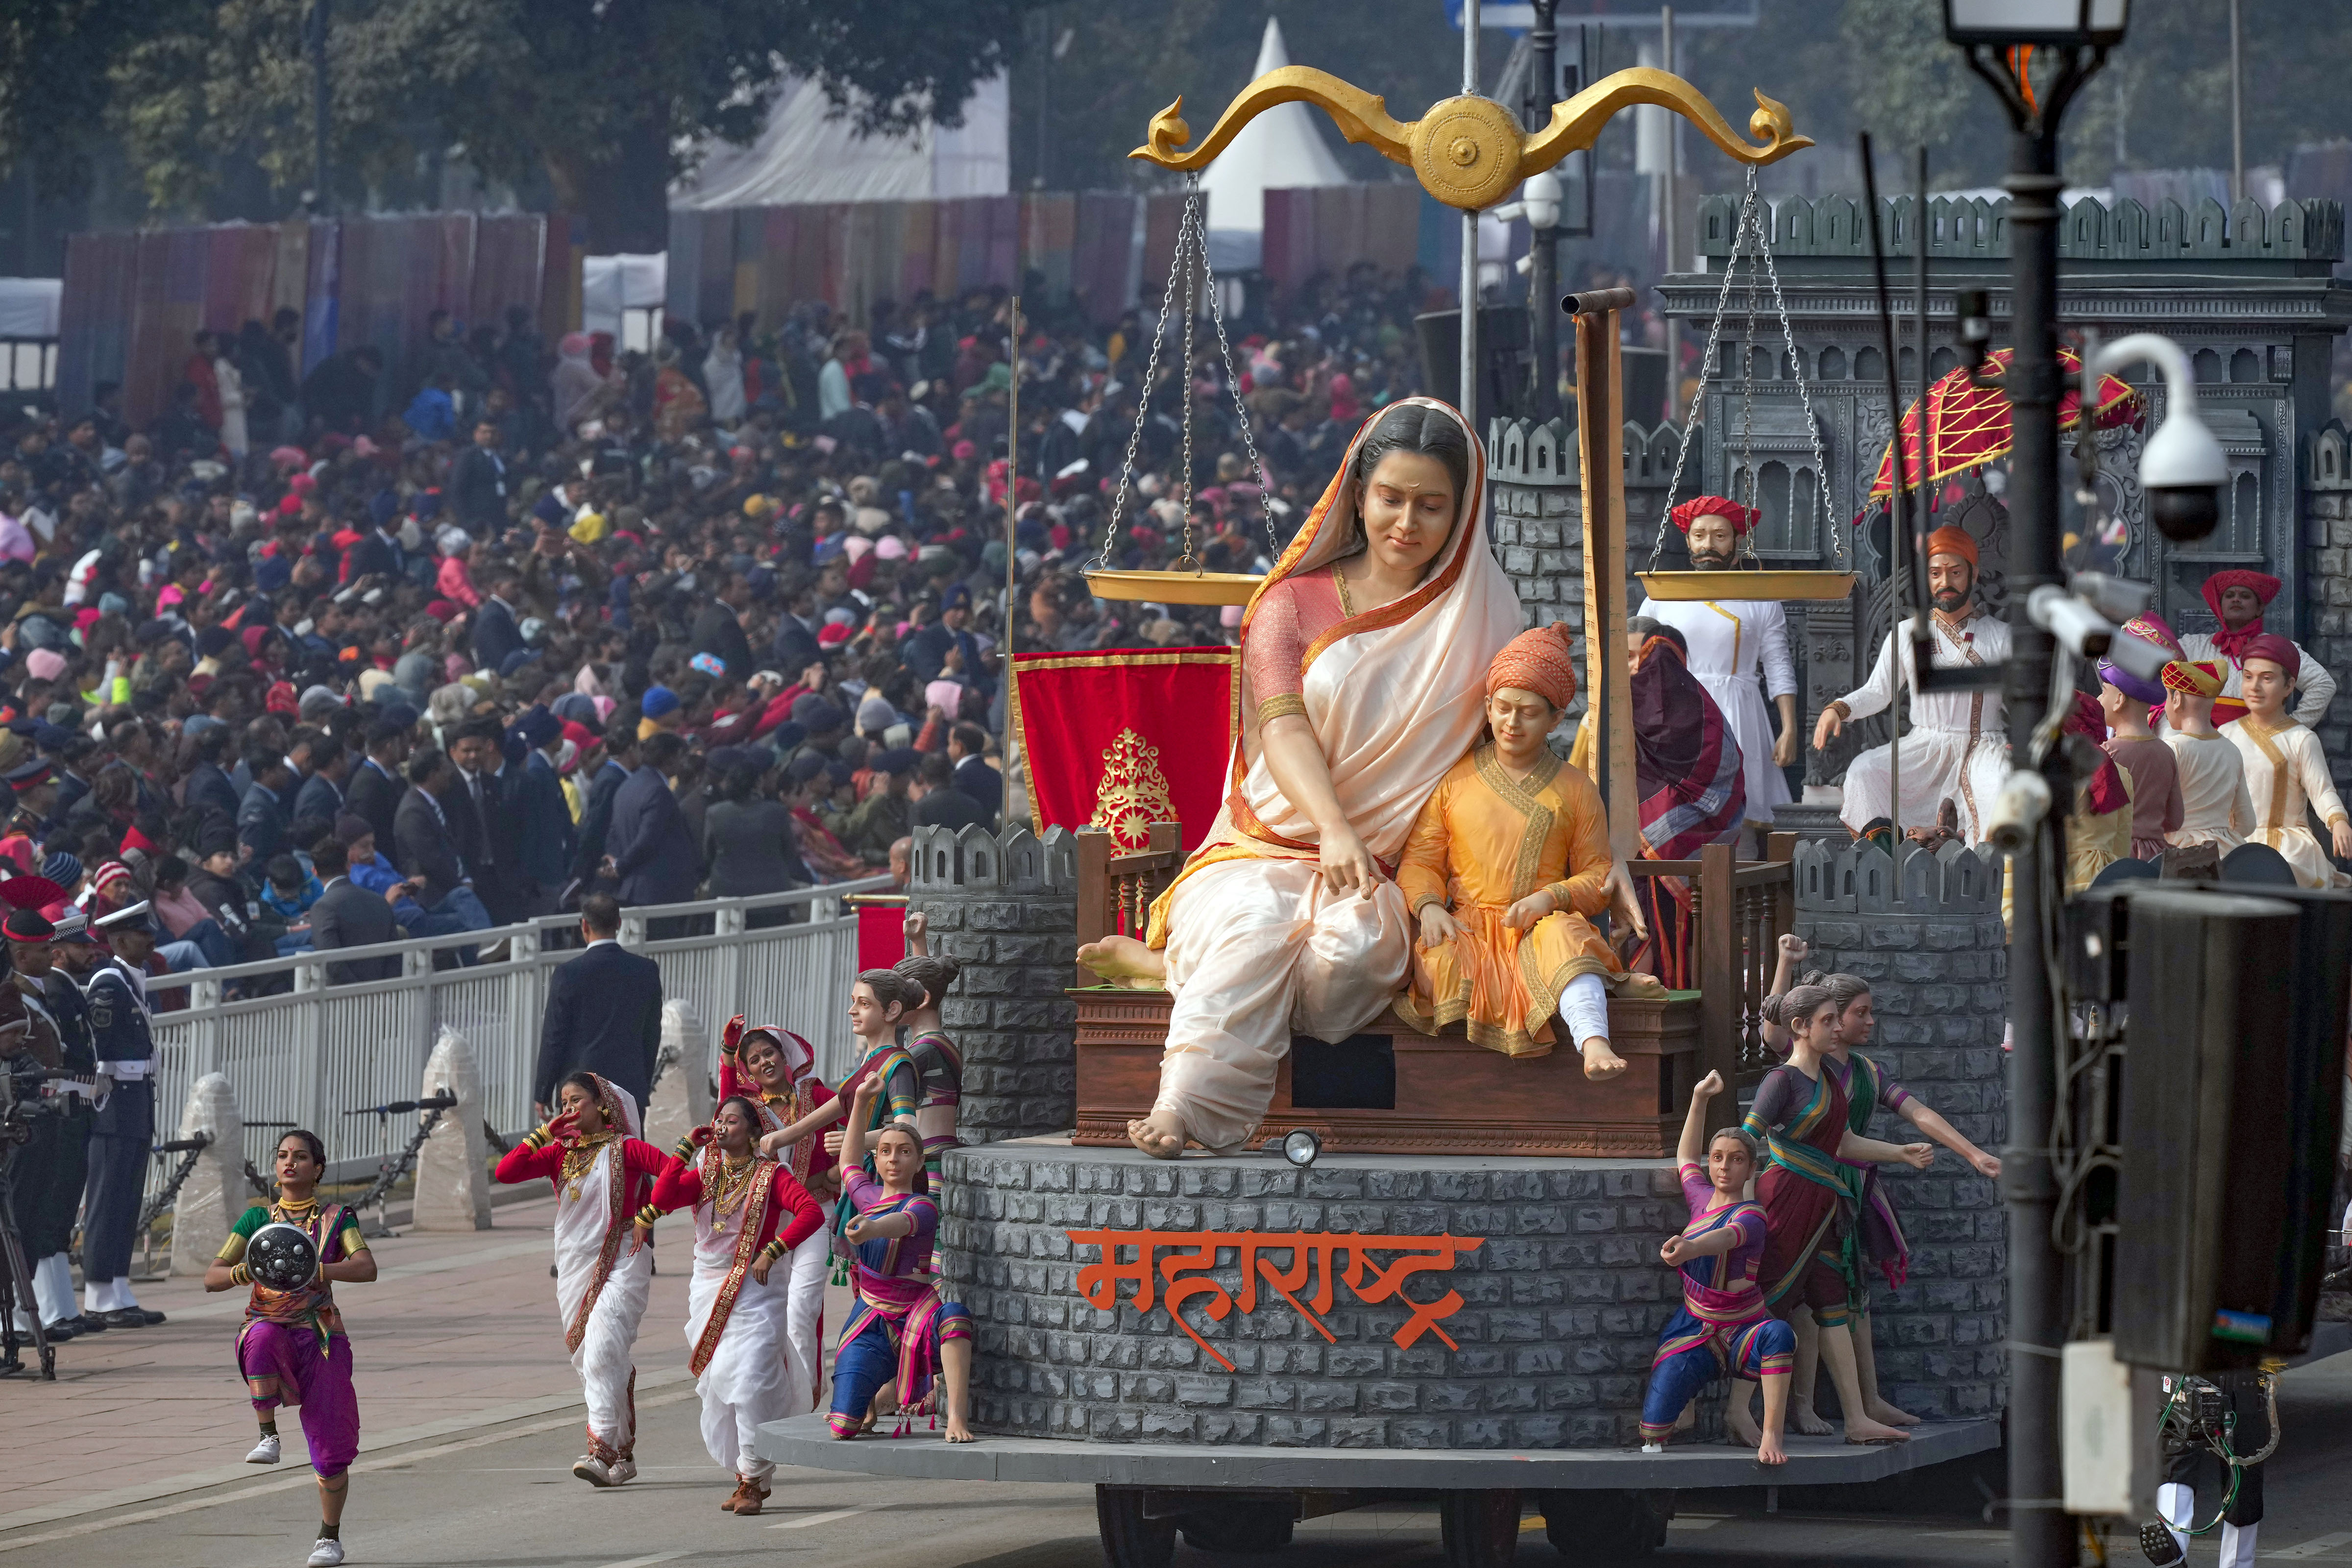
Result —
M278 1406L301 1408L301 1436L318 1472L318 1544L310 1568L343 1561L343 1502L350 1497L350 1460L360 1453L360 1396L350 1387L350 1335L334 1305L334 1286L365 1286L376 1276L376 1255L360 1237L360 1215L343 1204L322 1206L318 1182L327 1175L327 1145L318 1133L294 1128L273 1157L278 1201L254 1204L228 1232L228 1246L205 1269L207 1291L252 1286L245 1328L238 1331L238 1371L261 1418L261 1441L247 1465L278 1462ZM294 1225L318 1248L318 1274L292 1291L254 1281L245 1244L263 1225Z

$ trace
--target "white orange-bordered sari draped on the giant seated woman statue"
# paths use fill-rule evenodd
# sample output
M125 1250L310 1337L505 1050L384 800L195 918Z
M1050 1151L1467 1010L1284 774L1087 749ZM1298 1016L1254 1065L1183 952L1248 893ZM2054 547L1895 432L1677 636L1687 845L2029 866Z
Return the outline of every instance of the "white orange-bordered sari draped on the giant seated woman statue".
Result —
M1406 402L1461 414L1428 397ZM1392 404L1395 407L1395 404ZM1385 414L1385 409L1383 409ZM1364 421L1305 527L1242 616L1242 672L1268 592L1359 548L1348 473ZM1395 867L1423 802L1484 724L1486 665L1519 632L1519 599L1486 543L1486 456L1470 440L1470 482L1454 531L1421 588L1348 616L1305 646L1298 703L1315 729L1348 825ZM1265 1117L1291 1034L1341 1041L1404 985L1411 917L1395 882L1371 898L1324 889L1315 825L1282 797L1242 701L1230 792L1209 837L1152 907L1174 994L1155 1110L1185 1138L1230 1150Z

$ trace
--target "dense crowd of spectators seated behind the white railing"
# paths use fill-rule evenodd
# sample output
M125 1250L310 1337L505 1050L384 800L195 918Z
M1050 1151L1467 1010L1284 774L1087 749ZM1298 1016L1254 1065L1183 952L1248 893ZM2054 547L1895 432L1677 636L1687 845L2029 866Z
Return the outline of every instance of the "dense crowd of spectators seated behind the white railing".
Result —
M1263 569L1418 388L1423 294L1319 280L1230 324L1237 381L1138 313L1033 310L1009 362L1002 289L652 353L437 313L301 376L282 310L198 334L146 430L115 388L0 411L0 860L151 898L174 966L903 879L915 825L1007 809L1007 484L1018 649L1230 639L1080 569Z

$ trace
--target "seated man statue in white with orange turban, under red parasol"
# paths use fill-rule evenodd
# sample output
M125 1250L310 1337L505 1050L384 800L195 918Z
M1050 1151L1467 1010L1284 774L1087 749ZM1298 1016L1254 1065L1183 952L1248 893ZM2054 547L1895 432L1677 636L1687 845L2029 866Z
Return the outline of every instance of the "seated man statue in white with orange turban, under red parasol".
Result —
M1931 635L1936 668L1999 665L2009 661L2009 623L1976 604L1976 541L1964 529L1936 529L1926 538L1926 585L1933 604ZM1877 745L1846 769L1846 804L1839 818L1860 835L1893 811L1891 762L1903 748L1900 820L1933 823L1950 799L1959 809L1959 835L1969 844L1985 837L1985 816L2009 778L2009 733L2002 726L2002 693L1919 691L1912 642L1903 628L1886 632L1870 679L1820 710L1813 750L1830 750L1849 719L1886 712L1896 701L1896 670L1910 686L1912 729L1891 745Z

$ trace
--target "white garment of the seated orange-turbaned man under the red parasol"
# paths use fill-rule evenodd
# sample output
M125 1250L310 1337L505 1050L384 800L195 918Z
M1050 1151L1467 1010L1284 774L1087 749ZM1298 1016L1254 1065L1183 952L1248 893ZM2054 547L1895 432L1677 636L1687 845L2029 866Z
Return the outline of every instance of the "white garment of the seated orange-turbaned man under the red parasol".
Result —
M2009 661L2009 623L1978 611L1959 632L1931 621L1936 668L1999 665ZM1898 628L1900 630L1900 628ZM1985 837L1985 816L2009 778L2009 731L2002 724L2002 693L1919 691L1910 637L1886 635L1870 679L1849 691L1846 719L1886 712L1896 701L1896 658L1910 686L1910 733L1903 748L1903 830L1929 827L1936 809L1950 799L1959 806L1959 832L1969 844ZM1891 748L1875 745L1846 769L1846 804L1839 820L1860 832L1872 820L1893 813Z

